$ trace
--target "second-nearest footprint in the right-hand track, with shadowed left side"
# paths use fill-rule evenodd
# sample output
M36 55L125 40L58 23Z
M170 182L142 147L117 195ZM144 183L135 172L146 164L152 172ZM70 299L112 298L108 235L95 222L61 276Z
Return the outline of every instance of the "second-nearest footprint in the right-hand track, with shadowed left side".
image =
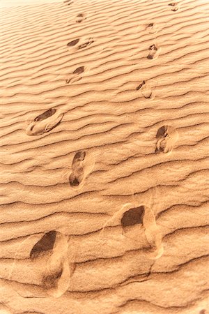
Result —
M157 130L155 153L171 154L178 140L178 131L171 126L162 126Z

